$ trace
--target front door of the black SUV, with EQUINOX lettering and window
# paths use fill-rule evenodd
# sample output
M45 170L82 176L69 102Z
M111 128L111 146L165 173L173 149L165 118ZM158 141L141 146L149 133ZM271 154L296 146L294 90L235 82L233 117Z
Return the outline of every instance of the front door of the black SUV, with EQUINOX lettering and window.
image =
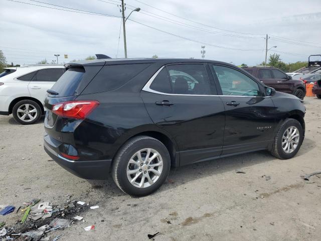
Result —
M220 98L225 105L222 155L264 149L273 139L275 108L263 85L245 71L212 65Z

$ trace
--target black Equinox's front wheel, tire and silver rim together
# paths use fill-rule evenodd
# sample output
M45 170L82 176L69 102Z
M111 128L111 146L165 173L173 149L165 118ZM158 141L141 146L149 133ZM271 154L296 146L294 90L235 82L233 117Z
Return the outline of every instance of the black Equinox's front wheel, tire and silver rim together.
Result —
M296 119L286 118L279 127L270 149L278 159L290 159L296 155L303 142L303 128Z

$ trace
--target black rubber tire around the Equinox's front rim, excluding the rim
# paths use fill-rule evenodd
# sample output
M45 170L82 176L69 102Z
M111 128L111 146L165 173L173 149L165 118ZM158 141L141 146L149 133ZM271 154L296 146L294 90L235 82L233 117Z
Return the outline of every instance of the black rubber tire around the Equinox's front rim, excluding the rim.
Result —
M297 145L296 149L292 153L285 153L282 148L282 137L286 129L288 129L291 126L296 127L299 131L299 135L300 135L299 144ZM290 159L294 157L296 153L300 150L300 147L303 142L303 128L301 124L298 121L296 121L296 119L287 119L285 125L282 125L279 133L280 135L278 136L278 139L277 139L278 154L282 159Z

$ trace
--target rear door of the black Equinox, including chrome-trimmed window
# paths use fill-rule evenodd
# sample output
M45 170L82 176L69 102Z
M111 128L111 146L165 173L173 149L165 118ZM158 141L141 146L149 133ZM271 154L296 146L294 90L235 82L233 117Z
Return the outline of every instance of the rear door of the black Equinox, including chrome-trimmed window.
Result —
M176 140L180 165L221 155L224 105L215 94L204 64L163 66L141 91L152 121Z

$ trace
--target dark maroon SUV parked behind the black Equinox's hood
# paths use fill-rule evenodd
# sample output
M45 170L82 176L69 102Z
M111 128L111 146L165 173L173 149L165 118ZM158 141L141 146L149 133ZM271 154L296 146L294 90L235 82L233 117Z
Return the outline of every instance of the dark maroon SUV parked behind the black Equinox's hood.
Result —
M282 70L269 67L269 66L254 66L254 67L243 67L256 78L258 78L265 85L274 88L276 91L293 94L296 97L303 99L306 90L305 84L302 80L292 79Z

